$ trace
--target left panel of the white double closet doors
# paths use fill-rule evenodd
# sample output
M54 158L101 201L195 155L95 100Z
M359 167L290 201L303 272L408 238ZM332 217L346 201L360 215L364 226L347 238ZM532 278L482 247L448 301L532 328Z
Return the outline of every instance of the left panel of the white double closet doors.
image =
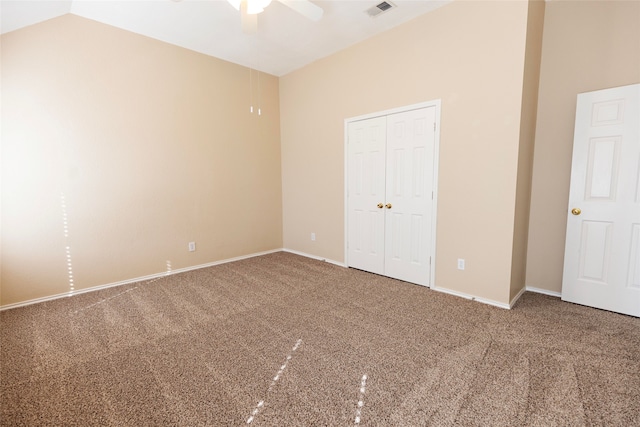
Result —
M384 274L386 117L348 125L349 266Z

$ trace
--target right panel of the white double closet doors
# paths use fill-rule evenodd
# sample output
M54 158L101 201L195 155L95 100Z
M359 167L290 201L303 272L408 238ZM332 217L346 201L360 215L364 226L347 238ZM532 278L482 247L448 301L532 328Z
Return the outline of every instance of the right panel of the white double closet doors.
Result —
M430 285L435 107L387 116L385 274Z

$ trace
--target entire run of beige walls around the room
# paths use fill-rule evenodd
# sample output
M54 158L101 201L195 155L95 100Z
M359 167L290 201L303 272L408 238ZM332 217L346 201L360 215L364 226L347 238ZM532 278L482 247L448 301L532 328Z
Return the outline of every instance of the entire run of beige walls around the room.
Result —
M2 305L68 292L67 246L76 290L283 246L341 262L344 119L433 99L435 285L559 292L576 95L640 82L627 1L455 1L262 75L260 118L246 68L93 21L0 41Z

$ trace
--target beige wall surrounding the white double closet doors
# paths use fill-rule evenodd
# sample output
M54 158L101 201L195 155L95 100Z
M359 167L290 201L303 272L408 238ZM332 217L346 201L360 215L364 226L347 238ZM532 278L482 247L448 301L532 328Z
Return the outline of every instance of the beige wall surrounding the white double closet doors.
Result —
M435 285L508 303L527 16L453 2L282 77L284 246L344 260L344 119L442 99Z

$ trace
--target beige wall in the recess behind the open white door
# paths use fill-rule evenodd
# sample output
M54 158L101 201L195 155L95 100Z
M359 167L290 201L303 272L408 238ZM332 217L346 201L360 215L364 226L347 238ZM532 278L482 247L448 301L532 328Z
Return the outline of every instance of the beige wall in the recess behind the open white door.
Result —
M640 2L547 2L527 286L562 289L577 94L638 82Z

